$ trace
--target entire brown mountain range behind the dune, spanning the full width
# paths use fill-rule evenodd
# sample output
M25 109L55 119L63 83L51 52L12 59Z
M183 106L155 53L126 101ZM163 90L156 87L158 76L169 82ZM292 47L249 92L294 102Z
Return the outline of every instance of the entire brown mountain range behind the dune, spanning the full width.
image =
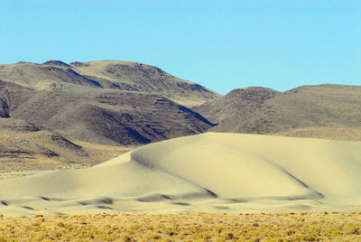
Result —
M101 163L208 131L361 140L361 87L239 88L222 97L150 65L0 65L0 171Z

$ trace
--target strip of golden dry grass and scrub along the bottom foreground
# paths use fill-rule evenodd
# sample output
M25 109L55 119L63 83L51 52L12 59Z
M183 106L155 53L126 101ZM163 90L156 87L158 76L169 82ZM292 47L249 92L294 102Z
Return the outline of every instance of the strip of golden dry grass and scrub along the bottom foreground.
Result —
M0 241L361 241L361 213L85 215L0 219Z

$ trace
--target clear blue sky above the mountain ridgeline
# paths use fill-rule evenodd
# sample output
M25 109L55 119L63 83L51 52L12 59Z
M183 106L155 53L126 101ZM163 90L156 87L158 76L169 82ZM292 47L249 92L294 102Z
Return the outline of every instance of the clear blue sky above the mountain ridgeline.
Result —
M219 93L361 85L361 1L0 0L0 63L141 61Z

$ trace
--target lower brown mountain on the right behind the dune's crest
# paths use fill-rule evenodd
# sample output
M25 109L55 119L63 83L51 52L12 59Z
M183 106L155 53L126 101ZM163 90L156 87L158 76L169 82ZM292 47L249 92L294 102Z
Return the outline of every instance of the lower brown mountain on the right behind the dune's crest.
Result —
M361 140L361 86L240 88L193 110L214 132Z

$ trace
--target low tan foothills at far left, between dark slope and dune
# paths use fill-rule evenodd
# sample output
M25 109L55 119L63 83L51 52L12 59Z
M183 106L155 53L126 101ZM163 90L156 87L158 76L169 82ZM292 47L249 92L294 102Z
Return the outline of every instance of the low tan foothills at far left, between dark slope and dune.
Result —
M0 118L0 172L83 168L124 154L133 147L88 145L26 121ZM26 173L28 174L28 173ZM17 174L18 175L18 174ZM4 174L0 176L0 179Z

